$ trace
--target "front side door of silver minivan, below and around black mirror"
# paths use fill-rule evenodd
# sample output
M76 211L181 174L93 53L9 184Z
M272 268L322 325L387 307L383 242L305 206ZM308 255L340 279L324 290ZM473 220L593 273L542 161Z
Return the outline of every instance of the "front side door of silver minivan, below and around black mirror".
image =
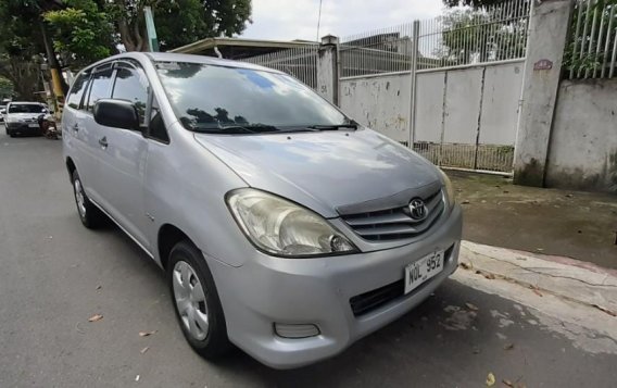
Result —
M142 130L146 127L149 83L137 63L119 61L114 67L112 99L134 103L141 130L99 126L98 142L102 151L100 195L105 199L111 216L137 242L150 250L142 186L148 158L148 141Z

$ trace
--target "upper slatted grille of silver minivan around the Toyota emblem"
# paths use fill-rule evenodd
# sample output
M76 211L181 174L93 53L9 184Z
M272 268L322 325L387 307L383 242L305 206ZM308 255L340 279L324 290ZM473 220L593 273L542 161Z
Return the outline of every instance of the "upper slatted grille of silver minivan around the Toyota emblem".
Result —
M420 221L412 218L408 206L349 214L341 217L365 240L391 241L412 238L428 230L444 209L441 189L421 199L426 204L427 216Z

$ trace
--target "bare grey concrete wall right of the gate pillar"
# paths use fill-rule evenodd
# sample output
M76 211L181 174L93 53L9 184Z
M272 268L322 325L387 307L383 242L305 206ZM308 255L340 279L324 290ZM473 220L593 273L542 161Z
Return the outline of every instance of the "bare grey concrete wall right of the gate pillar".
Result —
M617 79L564 80L549 146L549 187L617 193Z

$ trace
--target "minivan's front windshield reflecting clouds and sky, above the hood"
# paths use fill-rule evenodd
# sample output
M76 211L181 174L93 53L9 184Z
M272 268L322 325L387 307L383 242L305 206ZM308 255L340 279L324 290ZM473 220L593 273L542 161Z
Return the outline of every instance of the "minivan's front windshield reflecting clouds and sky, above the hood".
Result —
M243 134L349 123L288 75L185 62L160 62L156 68L178 120L190 130Z

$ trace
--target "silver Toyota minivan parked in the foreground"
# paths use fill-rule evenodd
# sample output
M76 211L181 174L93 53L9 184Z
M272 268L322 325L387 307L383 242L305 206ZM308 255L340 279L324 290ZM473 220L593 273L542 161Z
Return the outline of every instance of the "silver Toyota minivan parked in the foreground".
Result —
M166 271L206 359L332 356L456 268L448 177L275 70L112 57L80 72L62 126L81 223L111 218Z

